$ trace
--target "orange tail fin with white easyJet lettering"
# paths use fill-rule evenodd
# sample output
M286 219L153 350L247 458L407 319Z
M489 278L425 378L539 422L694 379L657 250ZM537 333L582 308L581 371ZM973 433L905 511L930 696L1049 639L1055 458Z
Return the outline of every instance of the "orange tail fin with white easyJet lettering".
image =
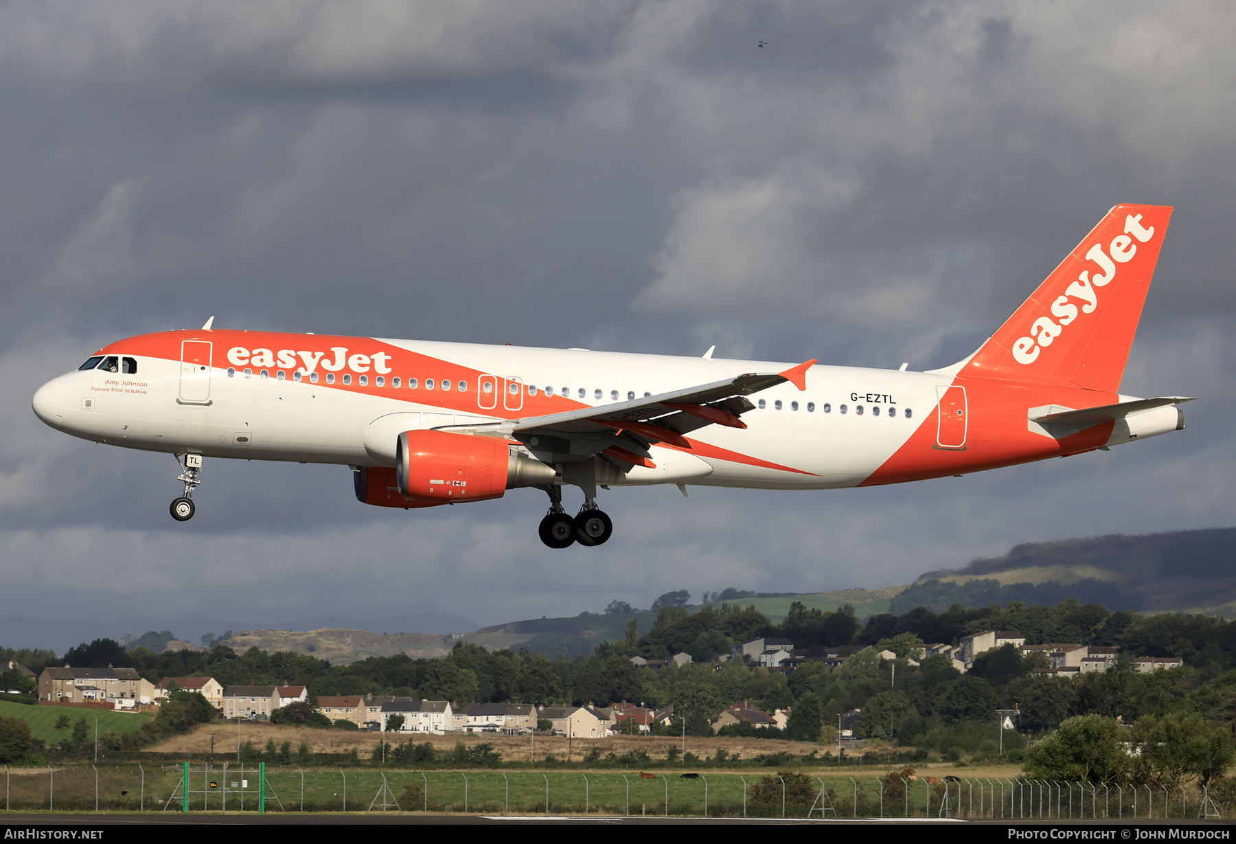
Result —
M962 367L1116 392L1172 209L1117 205Z

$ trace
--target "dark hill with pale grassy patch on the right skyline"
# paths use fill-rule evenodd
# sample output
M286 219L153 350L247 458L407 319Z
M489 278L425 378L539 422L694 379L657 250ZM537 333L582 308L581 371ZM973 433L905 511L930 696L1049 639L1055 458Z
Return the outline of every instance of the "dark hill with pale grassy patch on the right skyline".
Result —
M1109 609L1236 615L1236 528L1027 542L964 568L929 571L889 612L1067 598Z

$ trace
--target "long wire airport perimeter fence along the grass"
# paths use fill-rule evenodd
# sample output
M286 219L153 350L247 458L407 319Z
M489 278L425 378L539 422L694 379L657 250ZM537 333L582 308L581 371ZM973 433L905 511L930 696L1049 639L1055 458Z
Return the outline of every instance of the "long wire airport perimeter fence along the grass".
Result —
M402 812L765 818L1135 819L1231 814L1205 788L781 774L5 767L6 811ZM1225 812L1225 809L1227 809Z

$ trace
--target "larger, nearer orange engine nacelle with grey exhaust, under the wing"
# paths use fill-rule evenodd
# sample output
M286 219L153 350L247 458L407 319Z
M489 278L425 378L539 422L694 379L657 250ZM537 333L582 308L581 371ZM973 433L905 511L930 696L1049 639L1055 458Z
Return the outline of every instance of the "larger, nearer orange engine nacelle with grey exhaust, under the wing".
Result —
M507 440L475 434L414 430L399 435L399 494L429 504L502 498L507 489L545 487L555 472L515 451Z

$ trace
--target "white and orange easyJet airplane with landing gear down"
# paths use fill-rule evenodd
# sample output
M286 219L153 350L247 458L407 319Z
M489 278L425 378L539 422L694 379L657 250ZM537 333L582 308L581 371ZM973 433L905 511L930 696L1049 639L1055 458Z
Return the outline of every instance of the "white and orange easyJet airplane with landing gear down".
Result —
M549 496L550 547L613 534L597 488L838 489L1067 457L1184 428L1119 392L1172 208L1117 205L973 355L941 369L670 357L213 327L129 337L35 393L52 428L205 458L337 463L419 509ZM583 505L570 515L562 487Z

